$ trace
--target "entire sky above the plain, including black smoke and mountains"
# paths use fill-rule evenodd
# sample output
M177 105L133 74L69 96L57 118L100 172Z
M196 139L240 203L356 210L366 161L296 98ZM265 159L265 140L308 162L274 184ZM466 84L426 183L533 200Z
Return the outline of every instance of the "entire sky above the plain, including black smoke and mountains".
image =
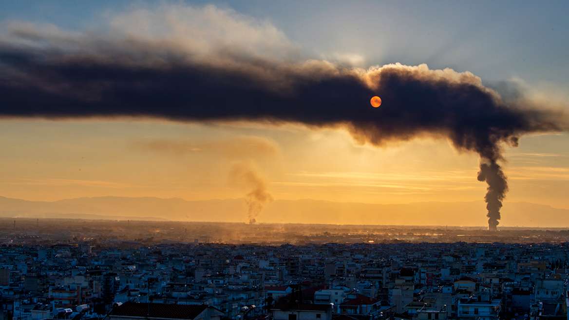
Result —
M3 217L568 227L564 2L0 9Z

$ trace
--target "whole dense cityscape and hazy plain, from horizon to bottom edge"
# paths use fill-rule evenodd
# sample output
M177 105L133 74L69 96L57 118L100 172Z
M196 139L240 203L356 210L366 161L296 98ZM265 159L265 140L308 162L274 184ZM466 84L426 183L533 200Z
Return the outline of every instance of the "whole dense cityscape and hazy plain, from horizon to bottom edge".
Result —
M563 230L2 222L6 320L567 319Z

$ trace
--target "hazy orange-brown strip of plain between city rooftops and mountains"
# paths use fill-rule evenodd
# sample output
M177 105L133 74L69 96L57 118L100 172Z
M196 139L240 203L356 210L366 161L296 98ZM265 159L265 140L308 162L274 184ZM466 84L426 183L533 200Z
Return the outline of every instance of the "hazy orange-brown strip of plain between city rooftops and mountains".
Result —
M0 218L0 240L43 244L90 241L104 247L156 243L566 243L562 228L425 227L401 225L245 224L179 221ZM134 242L133 242L134 241Z

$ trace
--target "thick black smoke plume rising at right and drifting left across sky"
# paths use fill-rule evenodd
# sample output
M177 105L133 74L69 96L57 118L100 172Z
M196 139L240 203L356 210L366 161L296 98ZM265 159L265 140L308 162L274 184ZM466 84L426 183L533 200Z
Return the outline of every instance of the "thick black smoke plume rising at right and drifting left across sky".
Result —
M522 134L567 128L555 114L506 103L478 77L451 69L393 64L364 70L226 48L196 58L176 46L104 36L97 36L97 46L74 38L70 49L38 45L50 43L38 34L26 37L36 44L0 45L2 116L292 122L345 128L357 142L376 146L447 138L456 149L480 155L478 179L488 183L493 229L508 190L498 165L501 144L516 146ZM376 95L380 108L369 103Z

